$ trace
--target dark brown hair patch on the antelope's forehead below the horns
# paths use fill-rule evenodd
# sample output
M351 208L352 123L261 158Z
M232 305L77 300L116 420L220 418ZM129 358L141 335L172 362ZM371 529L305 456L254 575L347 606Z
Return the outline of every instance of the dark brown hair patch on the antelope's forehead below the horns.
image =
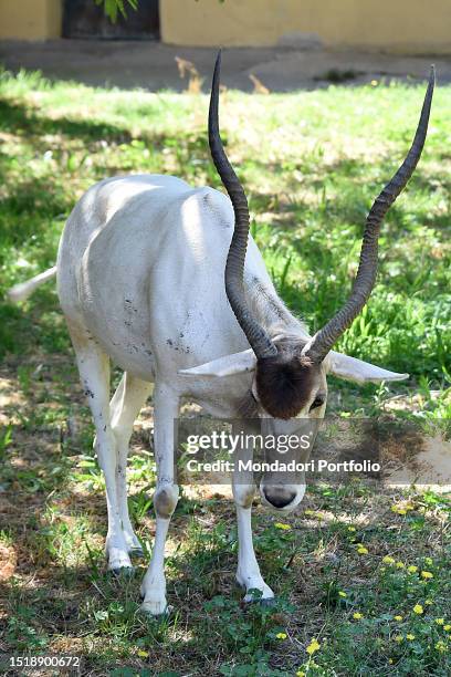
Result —
M321 365L301 354L298 345L279 345L274 357L259 360L255 384L265 412L274 418L294 418L307 405L319 383Z

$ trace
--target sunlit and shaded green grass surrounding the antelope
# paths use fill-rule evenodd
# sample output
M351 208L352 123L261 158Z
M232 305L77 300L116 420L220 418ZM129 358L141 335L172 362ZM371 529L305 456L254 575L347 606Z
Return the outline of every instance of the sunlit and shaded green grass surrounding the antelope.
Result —
M422 96L422 87L380 84L222 97L223 137L250 197L253 233L282 296L312 330L349 291L366 212L408 148ZM65 218L96 180L170 173L219 187L207 104L201 95L4 73L0 291L54 263ZM337 416L388 416L398 395L396 415L418 418L429 434L449 420L450 106L451 90L440 87L421 163L382 228L378 284L338 346L411 378L365 388L331 379ZM256 508L255 549L280 602L244 608L233 583L232 503L186 490L168 543L176 613L153 621L138 613L144 564L129 580L105 573L103 480L52 284L20 308L0 305L0 354L2 648L76 650L93 675L450 674L447 497L358 482L312 487L284 520L291 529ZM130 509L147 554L150 417L147 407L130 461ZM313 638L321 646L308 654Z

